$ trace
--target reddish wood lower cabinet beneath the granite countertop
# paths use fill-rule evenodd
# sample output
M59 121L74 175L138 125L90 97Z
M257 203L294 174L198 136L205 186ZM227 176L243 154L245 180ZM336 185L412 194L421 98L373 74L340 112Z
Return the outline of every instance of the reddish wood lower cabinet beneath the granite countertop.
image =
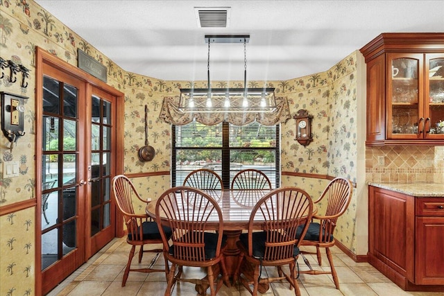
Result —
M369 263L403 290L444 291L444 198L368 191Z

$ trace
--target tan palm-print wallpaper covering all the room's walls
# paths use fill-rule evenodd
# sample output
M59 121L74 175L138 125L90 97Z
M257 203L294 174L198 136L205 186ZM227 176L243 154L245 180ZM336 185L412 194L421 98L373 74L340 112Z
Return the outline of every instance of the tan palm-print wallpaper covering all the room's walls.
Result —
M5 60L14 60L31 69L28 87L9 82L9 73L0 79L1 90L28 96L25 111L26 136L17 141L10 152L6 137L0 137L0 167L2 162L19 161L20 176L0 179L0 207L35 198L35 47L56 55L61 60L77 64L77 49L82 49L108 69L108 84L125 94L125 147L124 171L155 173L169 171L171 127L158 119L164 96L179 93L181 87L205 87L205 82L164 81L123 71L112 60L94 49L86 40L67 28L49 12L32 0L0 0L0 53ZM93 40L91 40L93 42ZM357 181L357 52L351 53L331 69L302 78L287 81L268 81L280 96L286 96L291 114L307 109L314 115L314 141L301 146L294 141L294 120L282 125L282 171L313 173L348 177ZM363 65L361 65L363 66ZM264 82L248 82L257 87ZM225 87L226 82L212 82ZM230 82L230 87L242 87L243 82ZM144 145L144 105L148 105L148 142L155 147L152 162L139 162L137 150ZM371 153L386 153L380 148ZM432 149L432 148L431 148ZM407 150L403 155L416 155ZM435 153L435 157L434 154ZM370 154L367 154L369 158ZM438 155L438 157L436 156ZM443 150L430 151L424 157L435 158L442 171ZM372 156L373 157L373 156ZM438 160L436 160L438 159ZM441 159L441 160L440 160ZM367 159L369 160L369 159ZM368 170L373 169L366 164ZM431 166L432 171L436 168ZM373 175L368 171L367 180ZM442 175L442 174L441 174ZM142 198L155 199L169 188L169 175L133 178ZM326 180L308 177L282 177L282 185L302 186L313 198L317 198L327 184ZM137 209L142 205L137 205ZM347 213L339 220L336 238L355 252L356 198ZM321 211L322 209L320 209ZM12 218L10 218L12 217ZM366 217L361 217L366 219ZM13 220L14 223L11 223ZM0 216L0 295L34 295L35 209L25 209ZM12 242L12 243L11 243ZM12 249L13 247L13 249ZM26 254L27 253L27 254ZM20 283L20 284L17 284Z

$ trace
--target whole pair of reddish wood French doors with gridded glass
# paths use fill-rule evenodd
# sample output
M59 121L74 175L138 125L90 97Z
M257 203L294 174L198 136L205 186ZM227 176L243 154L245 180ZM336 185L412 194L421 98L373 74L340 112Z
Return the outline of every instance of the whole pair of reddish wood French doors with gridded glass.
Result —
M36 266L44 295L115 236L111 180L121 102L110 87L93 86L64 67L39 67Z

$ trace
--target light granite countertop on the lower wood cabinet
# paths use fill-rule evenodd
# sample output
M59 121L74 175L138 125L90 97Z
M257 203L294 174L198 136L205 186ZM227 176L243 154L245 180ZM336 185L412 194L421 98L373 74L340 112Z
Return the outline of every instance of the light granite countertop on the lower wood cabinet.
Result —
M444 184L442 183L418 182L407 184L368 182L368 185L412 196L444 198Z

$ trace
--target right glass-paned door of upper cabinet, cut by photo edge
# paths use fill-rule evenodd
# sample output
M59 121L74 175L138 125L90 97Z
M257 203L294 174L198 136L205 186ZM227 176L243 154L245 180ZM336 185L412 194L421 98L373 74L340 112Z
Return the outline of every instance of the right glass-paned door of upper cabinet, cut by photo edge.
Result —
M425 57L425 137L444 138L444 55Z

